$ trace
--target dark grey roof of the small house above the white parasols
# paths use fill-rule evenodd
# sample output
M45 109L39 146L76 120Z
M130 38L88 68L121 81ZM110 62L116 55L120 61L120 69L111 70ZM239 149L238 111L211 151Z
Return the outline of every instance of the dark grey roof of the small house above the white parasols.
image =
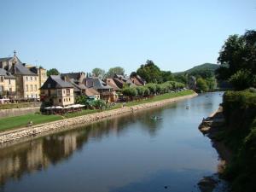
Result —
M61 79L60 75L50 75L44 82L40 90L58 89L58 88L73 88L73 84Z

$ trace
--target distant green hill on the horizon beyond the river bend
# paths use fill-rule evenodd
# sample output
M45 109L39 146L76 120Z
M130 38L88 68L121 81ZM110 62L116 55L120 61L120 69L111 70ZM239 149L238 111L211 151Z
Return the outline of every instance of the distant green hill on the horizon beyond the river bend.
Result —
M196 75L196 74L201 74L201 73L211 73L214 75L214 72L216 69L218 69L219 65L213 64L213 63L204 63L199 66L195 66L193 68L190 68L184 72L178 72L178 73L173 73L174 75L177 74L184 74L188 73L190 75Z

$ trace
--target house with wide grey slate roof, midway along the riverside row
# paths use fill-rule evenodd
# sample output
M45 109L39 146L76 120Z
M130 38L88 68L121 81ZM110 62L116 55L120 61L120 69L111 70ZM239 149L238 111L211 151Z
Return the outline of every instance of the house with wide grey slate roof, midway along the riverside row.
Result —
M102 79L96 77L86 78L85 86L97 90L100 93L101 99L107 102L116 102L118 99L118 95L113 90L113 87L106 84Z

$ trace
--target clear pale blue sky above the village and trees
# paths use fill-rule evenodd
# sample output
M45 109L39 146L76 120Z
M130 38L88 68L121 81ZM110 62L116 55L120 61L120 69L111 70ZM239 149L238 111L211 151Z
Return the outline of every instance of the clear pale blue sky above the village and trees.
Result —
M255 0L0 0L0 57L62 73L178 72L216 63L230 34L256 28Z

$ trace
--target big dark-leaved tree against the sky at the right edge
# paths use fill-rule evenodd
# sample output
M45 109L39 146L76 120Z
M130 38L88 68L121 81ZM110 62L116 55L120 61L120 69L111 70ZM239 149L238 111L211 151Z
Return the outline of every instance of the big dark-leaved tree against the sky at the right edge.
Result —
M256 74L256 31L247 31L241 36L231 35L220 50L218 63L220 63L220 67L216 71L218 79L228 80L240 70L247 71L247 73L237 74L240 78L245 78L244 75L253 77ZM238 80L238 76L234 79ZM236 84L233 85L236 86ZM250 86L252 85L250 84Z

